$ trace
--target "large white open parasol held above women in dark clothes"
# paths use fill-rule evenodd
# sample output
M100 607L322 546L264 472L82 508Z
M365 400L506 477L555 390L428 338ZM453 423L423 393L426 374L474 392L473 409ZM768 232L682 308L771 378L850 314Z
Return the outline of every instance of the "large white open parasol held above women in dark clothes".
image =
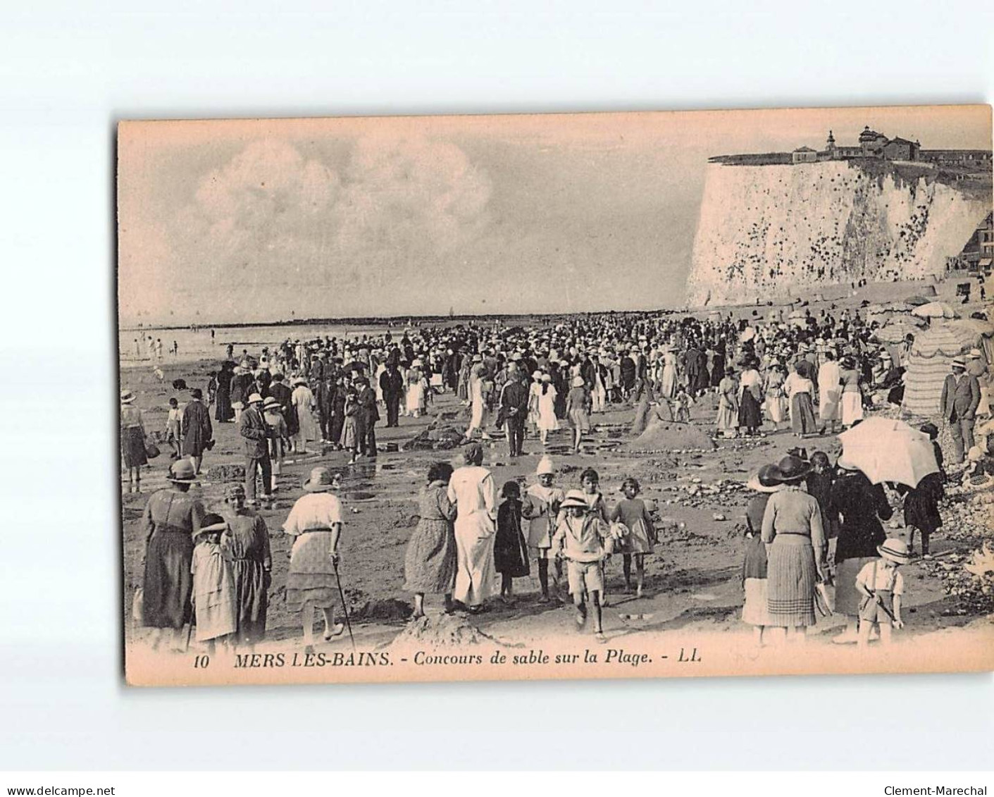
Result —
M903 420L871 417L839 435L845 458L873 484L898 482L917 487L938 472L931 438Z

